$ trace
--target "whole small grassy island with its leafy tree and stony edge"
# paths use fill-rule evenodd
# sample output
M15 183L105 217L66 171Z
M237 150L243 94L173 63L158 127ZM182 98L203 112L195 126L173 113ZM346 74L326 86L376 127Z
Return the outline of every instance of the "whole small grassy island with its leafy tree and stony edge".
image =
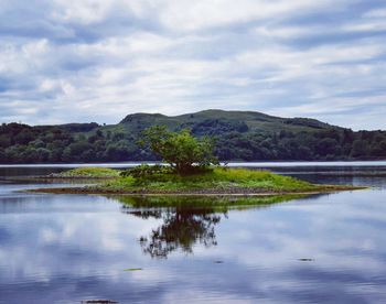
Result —
M317 194L363 187L315 185L269 171L221 166L213 140L195 139L189 130L167 127L143 131L140 144L160 155L164 164L142 164L129 170L81 167L46 178L101 180L82 187L40 188L33 192L127 195L281 195Z

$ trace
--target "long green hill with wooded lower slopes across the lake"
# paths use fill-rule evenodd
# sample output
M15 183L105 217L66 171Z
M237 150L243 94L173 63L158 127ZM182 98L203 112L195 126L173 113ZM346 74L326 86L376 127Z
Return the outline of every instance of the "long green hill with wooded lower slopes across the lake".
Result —
M386 159L386 131L360 131L309 118L280 118L254 111L205 110L169 117L133 113L119 123L0 127L0 163L66 163L157 160L136 144L140 132L164 124L216 139L223 161Z

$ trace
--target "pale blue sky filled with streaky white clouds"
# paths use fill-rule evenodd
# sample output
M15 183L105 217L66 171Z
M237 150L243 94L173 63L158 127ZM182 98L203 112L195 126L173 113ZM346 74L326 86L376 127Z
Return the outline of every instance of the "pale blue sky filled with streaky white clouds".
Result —
M205 109L386 129L385 0L0 0L0 122Z

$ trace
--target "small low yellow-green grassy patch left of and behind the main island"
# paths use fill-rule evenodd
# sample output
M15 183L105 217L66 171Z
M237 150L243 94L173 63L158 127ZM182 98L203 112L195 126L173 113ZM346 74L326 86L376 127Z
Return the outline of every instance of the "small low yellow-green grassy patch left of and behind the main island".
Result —
M77 167L58 174L54 177L63 178L112 178L119 177L120 171L109 167Z

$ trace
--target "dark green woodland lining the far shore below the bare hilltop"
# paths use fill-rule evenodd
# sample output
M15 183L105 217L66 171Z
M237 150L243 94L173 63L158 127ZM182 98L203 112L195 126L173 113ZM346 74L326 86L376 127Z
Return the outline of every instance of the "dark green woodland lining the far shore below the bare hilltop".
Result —
M354 132L343 128L312 131L250 131L243 123L206 120L187 127L196 138L214 138L221 161L336 161L386 159L386 131ZM154 161L138 144L141 131L97 123L0 127L0 163L69 163Z

